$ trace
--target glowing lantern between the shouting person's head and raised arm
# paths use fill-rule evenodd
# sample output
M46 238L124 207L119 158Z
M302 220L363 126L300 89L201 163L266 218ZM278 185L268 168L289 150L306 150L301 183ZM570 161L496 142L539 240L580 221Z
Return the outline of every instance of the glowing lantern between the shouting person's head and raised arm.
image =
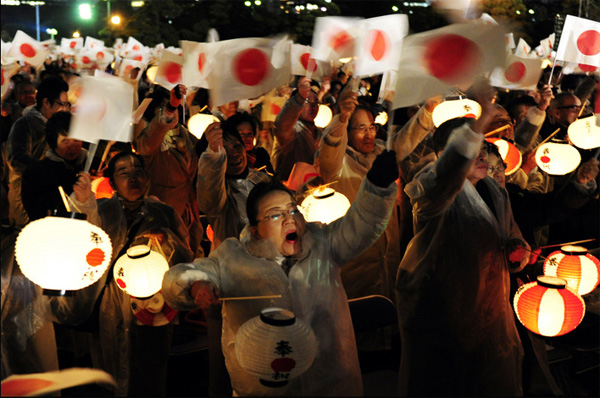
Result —
M300 213L308 222L324 224L342 217L350 208L350 201L343 194L329 187L319 187L300 205Z

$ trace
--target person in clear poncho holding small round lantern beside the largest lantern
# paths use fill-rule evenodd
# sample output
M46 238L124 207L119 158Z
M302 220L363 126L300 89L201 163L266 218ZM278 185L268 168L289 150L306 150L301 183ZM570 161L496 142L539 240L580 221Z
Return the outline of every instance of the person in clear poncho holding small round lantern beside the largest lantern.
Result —
M146 197L149 177L141 155L118 153L105 175L115 190L112 198L96 200L87 173L79 177L71 198L91 223L110 236L113 262L129 247L151 242L160 245L170 265L193 258L187 229L175 209ZM137 301L118 286L112 267L96 284L104 289L96 314L99 330L91 338L94 366L115 378L117 396L164 396L170 324L153 326L137 318L132 306Z

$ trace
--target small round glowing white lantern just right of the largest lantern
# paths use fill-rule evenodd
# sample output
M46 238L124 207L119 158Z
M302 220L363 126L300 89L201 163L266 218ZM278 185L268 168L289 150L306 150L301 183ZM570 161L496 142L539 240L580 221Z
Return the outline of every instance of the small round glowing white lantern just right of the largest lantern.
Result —
M136 245L119 257L113 275L121 290L133 297L144 298L160 291L168 270L169 264L162 254L149 246Z

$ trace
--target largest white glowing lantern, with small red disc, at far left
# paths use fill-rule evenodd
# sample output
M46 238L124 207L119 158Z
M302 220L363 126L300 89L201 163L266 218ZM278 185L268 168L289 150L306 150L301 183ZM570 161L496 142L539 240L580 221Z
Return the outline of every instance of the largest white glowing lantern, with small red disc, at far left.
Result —
M86 215L45 217L23 228L15 255L23 275L45 294L71 294L98 281L112 256L110 238Z

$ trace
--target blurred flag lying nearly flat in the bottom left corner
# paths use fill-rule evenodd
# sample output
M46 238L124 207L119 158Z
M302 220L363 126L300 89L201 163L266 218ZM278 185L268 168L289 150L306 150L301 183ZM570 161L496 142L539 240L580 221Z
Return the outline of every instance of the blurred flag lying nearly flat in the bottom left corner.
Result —
M9 376L2 380L2 396L34 397L93 383L116 387L113 377L103 370L71 368L56 372Z

